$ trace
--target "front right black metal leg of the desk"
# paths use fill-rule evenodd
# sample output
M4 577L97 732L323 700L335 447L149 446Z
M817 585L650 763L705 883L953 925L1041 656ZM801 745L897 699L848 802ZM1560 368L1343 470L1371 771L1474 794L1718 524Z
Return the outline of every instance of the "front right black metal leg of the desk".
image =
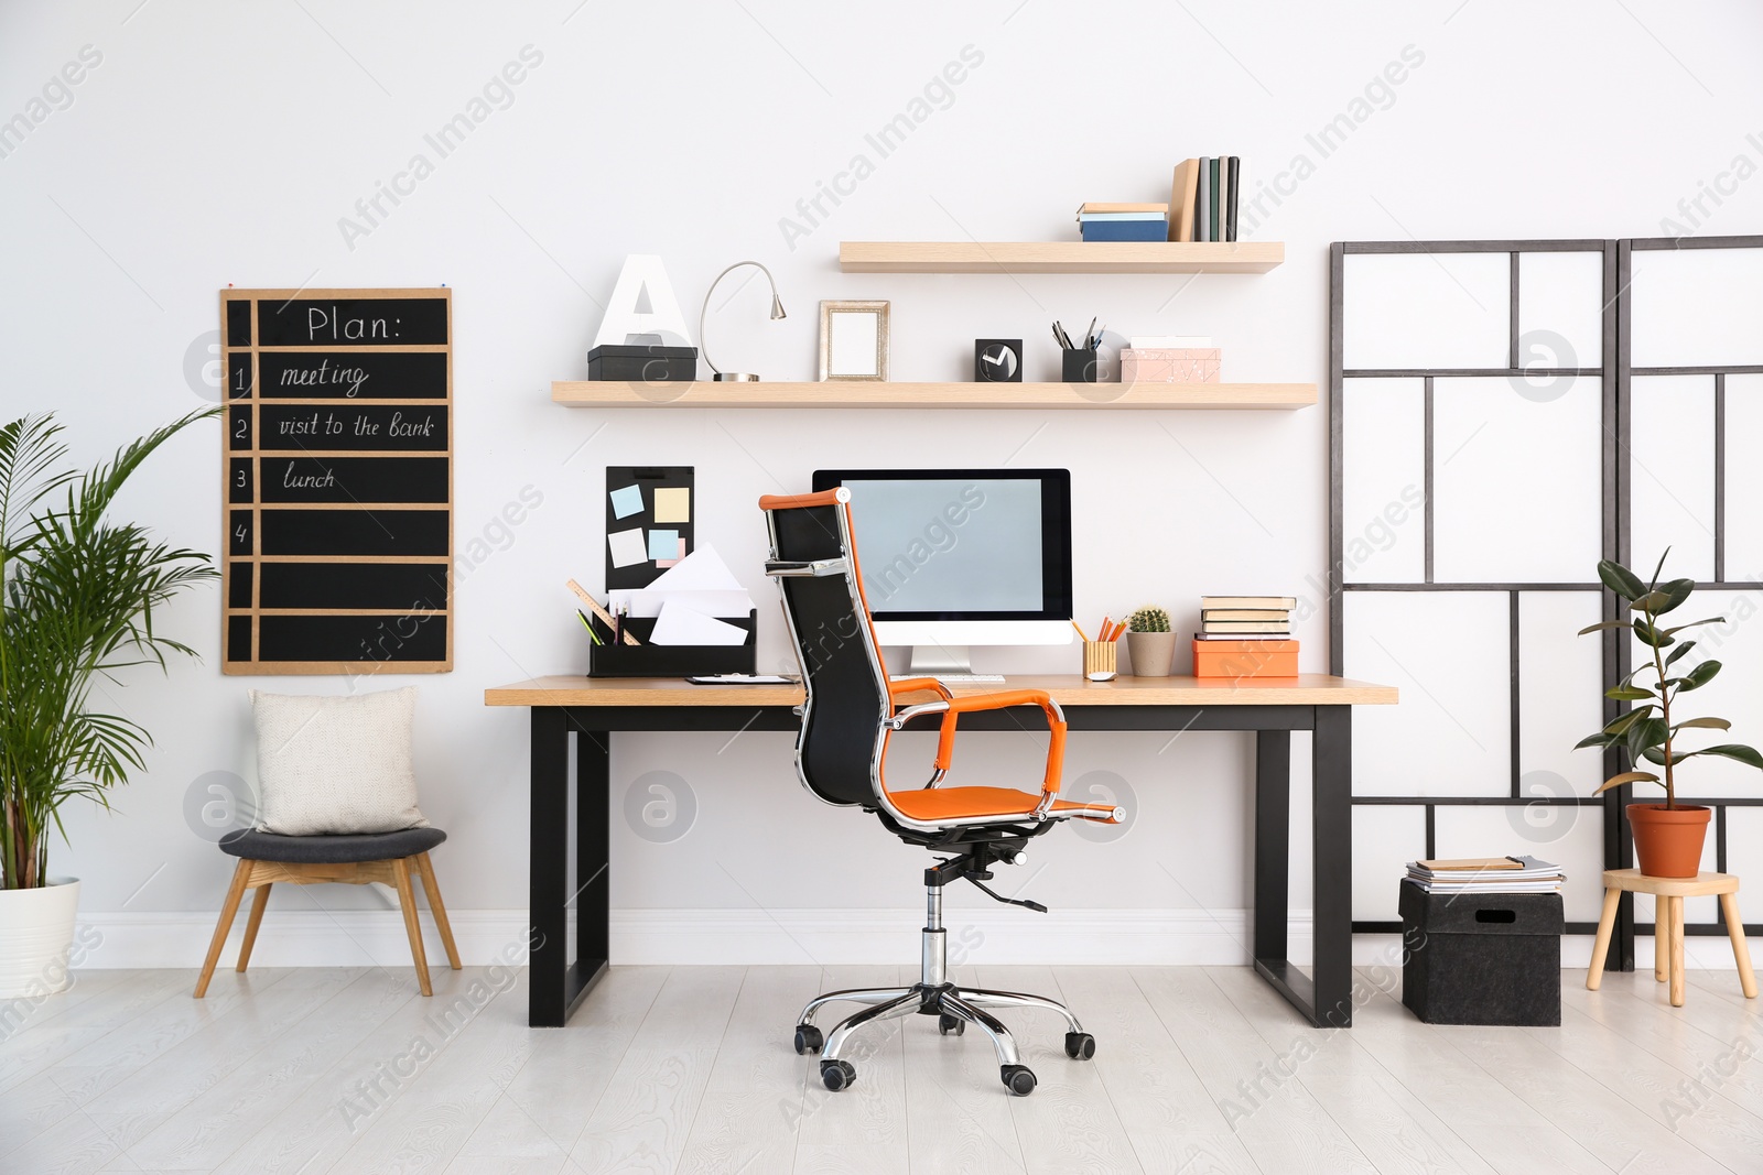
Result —
M1352 706L1317 706L1312 772L1312 1024L1352 1024Z

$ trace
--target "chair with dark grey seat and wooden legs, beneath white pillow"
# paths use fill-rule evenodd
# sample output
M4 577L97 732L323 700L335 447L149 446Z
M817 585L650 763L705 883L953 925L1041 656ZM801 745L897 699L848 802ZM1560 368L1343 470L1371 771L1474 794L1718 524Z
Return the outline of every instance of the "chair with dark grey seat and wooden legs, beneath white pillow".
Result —
M428 891L428 909L435 916L435 928L446 946L446 960L458 971L458 948L453 946L453 927L446 920L446 905L441 904L441 886L435 884L434 865L428 863L428 849L446 840L439 828L405 828L377 835L351 837L279 837L266 831L242 831L220 842L226 853L240 858L233 870L233 886L226 893L220 907L220 923L215 937L208 944L208 960L203 962L203 974L196 979L196 999L208 994L208 979L220 960L220 948L233 930L233 918L238 914L240 898L245 890L256 888L257 895L250 904L250 920L245 923L245 941L238 948L238 971L245 971L250 962L250 948L257 942L257 925L263 921L263 907L270 904L270 886L286 881L296 886L344 883L367 884L383 881L398 891L398 905L404 909L404 930L411 937L411 958L416 960L416 983L423 995L434 995L428 985L428 955L423 951L423 930L416 920L416 890L411 883L411 870L421 877L423 890Z

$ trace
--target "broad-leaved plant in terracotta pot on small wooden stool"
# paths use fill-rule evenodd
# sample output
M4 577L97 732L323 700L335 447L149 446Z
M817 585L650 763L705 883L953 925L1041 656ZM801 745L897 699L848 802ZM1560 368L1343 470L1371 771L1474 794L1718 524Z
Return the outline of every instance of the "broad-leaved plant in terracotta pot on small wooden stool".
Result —
M1673 676L1673 666L1696 647L1696 641L1680 641L1678 634L1705 624L1724 624L1726 617L1661 627L1661 617L1677 611L1696 590L1694 580L1659 583L1661 571L1664 571L1664 555L1659 557L1659 565L1647 583L1641 583L1640 576L1618 562L1606 558L1597 564L1597 578L1629 606L1629 611L1638 615L1629 620L1588 625L1580 629L1580 636L1606 629L1629 629L1648 655L1615 689L1604 691L1604 698L1636 703L1634 708L1618 713L1604 729L1580 740L1578 747L1617 747L1629 759L1629 770L1606 779L1597 793L1622 784L1661 784L1664 787L1664 803L1631 803L1627 807L1629 826L1634 830L1634 854L1640 860L1641 874L1648 877L1694 877L1701 867L1701 842L1708 833L1708 809L1677 802L1677 768L1685 759L1700 756L1737 759L1747 766L1763 768L1763 756L1742 743L1719 743L1698 750L1684 750L1678 745L1678 731L1726 731L1733 726L1726 719L1715 717L1685 719L1682 708L1673 712L1682 694L1701 689L1721 671L1719 661L1701 661L1689 669L1677 669ZM1666 652L1668 648L1671 652ZM1641 770L1641 761L1657 766L1663 777Z

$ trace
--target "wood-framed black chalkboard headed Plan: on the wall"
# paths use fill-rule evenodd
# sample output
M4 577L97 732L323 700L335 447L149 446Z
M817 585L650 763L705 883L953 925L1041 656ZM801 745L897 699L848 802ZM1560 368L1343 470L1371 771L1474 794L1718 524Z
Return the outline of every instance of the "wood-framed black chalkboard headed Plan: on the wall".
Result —
M224 289L220 338L220 671L450 673L453 291ZM400 354L441 356L441 368ZM277 388L259 382L266 366ZM266 477L279 479L268 497ZM303 488L310 500L298 500ZM277 574L287 564L312 571ZM377 583L374 569L386 571ZM277 606L263 606L266 574ZM409 606L384 606L413 587Z

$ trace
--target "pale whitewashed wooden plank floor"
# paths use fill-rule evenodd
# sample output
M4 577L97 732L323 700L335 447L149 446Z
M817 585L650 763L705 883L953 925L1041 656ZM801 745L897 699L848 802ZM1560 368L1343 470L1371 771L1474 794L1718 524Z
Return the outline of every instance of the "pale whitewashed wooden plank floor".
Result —
M99 971L0 1024L0 1171L1763 1171L1763 1001L1691 972L1601 992L1560 1029L1417 1024L1361 971L1358 1024L1301 1024L1239 967L968 967L1061 995L1095 1032L1014 1013L1031 1097L978 1034L911 1016L822 1089L804 999L894 969L622 967L568 1029L520 972Z

